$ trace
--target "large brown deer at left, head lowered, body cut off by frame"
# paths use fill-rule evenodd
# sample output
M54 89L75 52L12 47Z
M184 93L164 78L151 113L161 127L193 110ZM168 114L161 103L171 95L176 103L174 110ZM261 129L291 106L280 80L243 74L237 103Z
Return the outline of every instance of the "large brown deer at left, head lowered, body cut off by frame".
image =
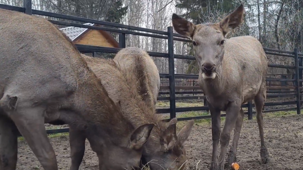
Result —
M68 124L85 136L102 170L138 167L154 125L135 129L71 40L46 19L0 9L0 23L0 168L16 169L19 131L42 167L58 170L44 123Z

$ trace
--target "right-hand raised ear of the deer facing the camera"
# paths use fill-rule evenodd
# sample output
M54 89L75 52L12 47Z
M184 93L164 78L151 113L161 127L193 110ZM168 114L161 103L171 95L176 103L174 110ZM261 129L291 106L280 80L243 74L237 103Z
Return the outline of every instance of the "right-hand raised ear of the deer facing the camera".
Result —
M244 15L244 6L241 4L235 11L222 19L219 23L220 28L222 30L222 34L225 37L231 30L238 27L243 19Z

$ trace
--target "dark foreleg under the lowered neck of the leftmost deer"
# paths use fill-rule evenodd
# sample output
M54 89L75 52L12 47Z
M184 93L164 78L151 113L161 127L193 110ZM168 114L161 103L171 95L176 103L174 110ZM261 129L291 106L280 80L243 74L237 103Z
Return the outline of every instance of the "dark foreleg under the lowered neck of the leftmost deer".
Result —
M69 128L72 165L70 170L78 170L85 152L85 134L80 130Z

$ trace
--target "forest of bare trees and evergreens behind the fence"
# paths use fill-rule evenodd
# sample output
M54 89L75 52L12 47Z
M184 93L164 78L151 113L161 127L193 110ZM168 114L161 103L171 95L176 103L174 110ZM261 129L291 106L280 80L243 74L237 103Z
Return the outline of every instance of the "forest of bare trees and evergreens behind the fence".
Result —
M22 0L0 0L0 3L23 6ZM288 51L298 48L300 52L303 51L303 0L32 0L32 8L167 31L167 27L171 26L172 13L177 13L195 24L218 22L240 3L245 6L244 21L227 38L251 35L263 47ZM118 41L118 35L112 35ZM168 51L167 40L135 35L126 36L126 46L161 53ZM174 46L175 54L194 55L191 43L175 41ZM106 53L98 55L113 56ZM269 63L294 65L293 59L289 57L267 57ZM167 58L153 59L160 73L168 73ZM176 74L197 74L197 71L195 60L175 59ZM270 68L268 74L292 71Z

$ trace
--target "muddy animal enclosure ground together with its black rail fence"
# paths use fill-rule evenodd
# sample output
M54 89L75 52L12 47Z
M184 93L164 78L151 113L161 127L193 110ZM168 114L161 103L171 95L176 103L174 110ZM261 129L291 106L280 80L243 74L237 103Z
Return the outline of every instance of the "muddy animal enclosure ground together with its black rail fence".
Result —
M102 47L97 45L85 45L76 44L76 47L81 52L102 52L102 53L117 53L121 48L126 47L126 34L153 37L164 39L168 41L168 53L148 52L153 57L163 57L168 59L169 73L160 73L162 84L158 95L159 103L164 103L165 106L158 107L157 113L164 115L164 121L169 121L171 118L177 117L178 121L183 120L196 120L195 131L193 130L190 135L187 145L187 154L190 156L188 161L189 169L208 169L211 155L211 129L209 128L209 114L195 115L184 117L185 112L202 112L207 111L208 106L206 102L206 96L203 91L197 86L198 75L180 75L175 74L175 59L190 59L195 60L194 56L185 56L180 54L174 54L174 42L191 42L184 36L175 34L172 27L168 27L167 31L151 30L147 28L134 27L129 25L110 23L105 21L98 21L94 19L87 19L75 16L69 16L64 14L56 14L51 12L33 10L31 8L31 0L24 0L24 8L15 7L9 5L0 4L0 8L25 12L26 14L35 14L45 17L50 22L56 25L62 25L67 27L79 27L87 28L90 30L102 30L108 32L115 32L119 34L118 45L119 48ZM53 18L60 18L62 20L72 20L74 22L67 22L62 20L54 20ZM92 23L79 24L80 22ZM115 27L101 27L97 25ZM252 120L254 112L254 104L249 102L243 104L245 108L245 114L248 115L243 123L243 129L239 140L239 164L245 170L248 169L269 169L269 170L282 170L282 169L296 169L299 170L302 164L302 143L303 140L303 117L297 116L301 114L301 102L302 102L302 59L303 53L298 53L297 49L294 51L283 51L270 48L264 48L265 53L270 56L282 56L290 57L294 61L293 66L278 65L269 63L269 67L281 68L281 69L293 69L295 74L289 75L267 75L267 102L265 103L264 113L274 112L272 114L265 114L265 134L266 142L270 152L272 163L267 165L258 164L258 152L259 149L255 149L258 145L258 131L257 123ZM182 83L182 79L189 80L188 83ZM167 102L168 101L168 102ZM183 107L177 107L180 102L184 101ZM285 108L285 106L288 106ZM281 112L284 111L284 112ZM290 112L285 112L290 111ZM169 117L168 115L169 114ZM273 117L273 115L277 117ZM166 117L165 117L166 116ZM225 114L221 114L222 117ZM179 124L182 122L179 122ZM223 123L222 123L223 124ZM222 126L221 124L221 126ZM65 126L66 127L66 126ZM47 130L48 134L55 133L67 133L68 128L63 129L51 129ZM58 165L61 169L68 169L69 158L69 143L68 137L61 136L51 139L52 145L55 149L58 158ZM92 170L98 169L95 165L98 165L97 158L93 152L89 149L89 144L86 142L85 159L82 163L82 169ZM38 160L30 151L25 141L19 143L19 169L39 169ZM292 162L292 164L287 164ZM287 166L282 165L283 163Z

